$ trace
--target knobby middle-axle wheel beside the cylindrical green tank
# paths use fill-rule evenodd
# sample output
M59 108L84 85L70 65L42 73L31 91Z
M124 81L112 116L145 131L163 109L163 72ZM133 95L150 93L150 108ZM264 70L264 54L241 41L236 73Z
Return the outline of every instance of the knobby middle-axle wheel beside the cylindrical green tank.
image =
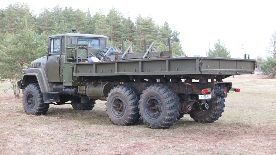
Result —
M139 121L139 95L128 85L114 87L106 98L108 118L114 125L133 125Z

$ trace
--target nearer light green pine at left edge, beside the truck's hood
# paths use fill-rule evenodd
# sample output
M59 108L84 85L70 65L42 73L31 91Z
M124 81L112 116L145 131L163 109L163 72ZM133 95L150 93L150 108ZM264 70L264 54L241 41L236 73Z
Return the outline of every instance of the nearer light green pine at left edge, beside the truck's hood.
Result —
M16 33L7 34L0 46L0 79L9 80L15 97L19 97L20 89L17 81L21 79L21 71L30 66L30 62L41 56L36 33L28 26L25 18L17 19Z

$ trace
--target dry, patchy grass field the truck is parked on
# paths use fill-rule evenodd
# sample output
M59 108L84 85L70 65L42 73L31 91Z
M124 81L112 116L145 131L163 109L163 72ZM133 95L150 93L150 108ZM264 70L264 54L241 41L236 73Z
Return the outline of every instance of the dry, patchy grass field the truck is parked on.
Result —
M113 125L105 102L92 111L50 104L45 116L27 115L9 83L0 84L0 154L276 154L276 79L228 78L233 92L214 123L186 114L170 129Z

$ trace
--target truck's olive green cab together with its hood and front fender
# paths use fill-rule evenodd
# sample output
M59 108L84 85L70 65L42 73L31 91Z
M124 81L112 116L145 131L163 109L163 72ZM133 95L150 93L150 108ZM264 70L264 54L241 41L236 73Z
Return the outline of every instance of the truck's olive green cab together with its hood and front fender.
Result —
M73 31L74 32L74 31ZM70 60L71 63L89 57L108 47L107 36L94 34L57 34L49 36L47 55L32 61L30 68L22 70L22 80L18 82L20 89L25 89L29 84L37 83L43 94L45 103L60 102L59 93L53 90L56 84L63 84L64 63L69 62L68 45L85 45L85 52L73 55L80 59ZM85 54L86 53L86 54ZM71 58L72 59L72 58ZM64 96L63 96L64 97Z

